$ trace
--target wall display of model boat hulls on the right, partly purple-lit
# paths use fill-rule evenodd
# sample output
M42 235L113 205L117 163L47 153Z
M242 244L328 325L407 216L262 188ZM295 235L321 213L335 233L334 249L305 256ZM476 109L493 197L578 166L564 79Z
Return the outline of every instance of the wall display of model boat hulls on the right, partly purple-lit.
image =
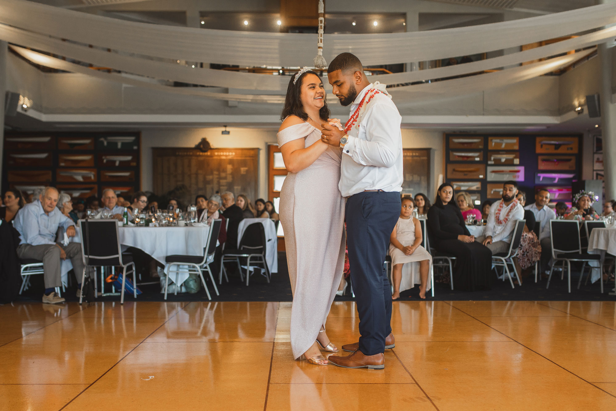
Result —
M540 187L549 187L553 201L570 201L580 176L581 142L580 135L445 133L445 181L481 201L500 199L507 180L517 181L529 203Z

